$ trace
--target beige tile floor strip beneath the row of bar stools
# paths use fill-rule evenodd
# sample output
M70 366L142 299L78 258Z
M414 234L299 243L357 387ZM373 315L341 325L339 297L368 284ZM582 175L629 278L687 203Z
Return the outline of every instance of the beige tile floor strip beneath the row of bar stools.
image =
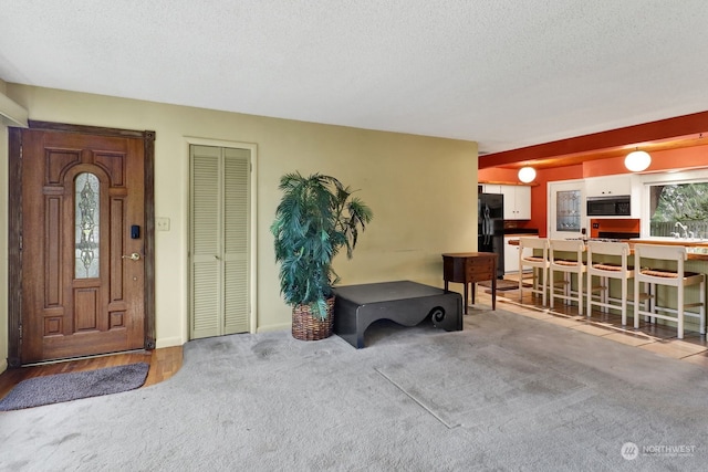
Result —
M473 306L485 305L491 308L491 294L489 290L478 286ZM497 307L500 310L708 367L708 343L706 336L698 332L686 331L684 339L678 339L676 328L670 326L642 321L639 328L635 329L632 315L628 315L627 326L622 326L620 314L593 311L592 316L587 317L586 314L579 316L577 306L565 306L560 301L556 301L553 310L541 305L540 297L527 296L525 293L524 300L519 302L518 290L497 291Z

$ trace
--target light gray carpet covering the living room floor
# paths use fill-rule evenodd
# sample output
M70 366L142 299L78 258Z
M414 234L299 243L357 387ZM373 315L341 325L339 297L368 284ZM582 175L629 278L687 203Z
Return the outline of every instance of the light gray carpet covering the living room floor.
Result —
M705 367L501 308L377 322L366 346L190 342L162 384L0 413L0 470L706 468Z

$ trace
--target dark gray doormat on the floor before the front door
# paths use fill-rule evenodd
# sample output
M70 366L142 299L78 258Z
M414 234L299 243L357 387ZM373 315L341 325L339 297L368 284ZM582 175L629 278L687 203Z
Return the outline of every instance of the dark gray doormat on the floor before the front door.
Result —
M149 367L149 364L137 363L22 380L0 400L0 411L133 390L145 384Z

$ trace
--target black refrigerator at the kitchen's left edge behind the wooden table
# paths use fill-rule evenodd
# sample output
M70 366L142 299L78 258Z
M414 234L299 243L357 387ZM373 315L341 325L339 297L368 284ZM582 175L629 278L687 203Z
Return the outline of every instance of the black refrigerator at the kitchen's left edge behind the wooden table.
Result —
M497 279L503 279L504 196L501 193L478 193L477 197L477 251L499 254Z

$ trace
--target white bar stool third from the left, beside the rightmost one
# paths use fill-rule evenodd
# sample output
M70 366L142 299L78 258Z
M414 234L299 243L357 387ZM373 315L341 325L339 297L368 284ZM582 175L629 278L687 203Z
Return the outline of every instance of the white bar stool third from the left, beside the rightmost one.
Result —
M598 258L603 255L620 256L620 262L604 262ZM622 314L622 325L627 324L628 281L634 277L634 268L627 266L629 244L626 242L587 241L587 317L592 315L593 306L598 306L603 312L611 308L618 310ZM598 260L600 259L600 260ZM600 285L593 286L593 276L600 277ZM610 296L610 280L618 280L622 287L622 297ZM597 297L593 297L600 292Z

